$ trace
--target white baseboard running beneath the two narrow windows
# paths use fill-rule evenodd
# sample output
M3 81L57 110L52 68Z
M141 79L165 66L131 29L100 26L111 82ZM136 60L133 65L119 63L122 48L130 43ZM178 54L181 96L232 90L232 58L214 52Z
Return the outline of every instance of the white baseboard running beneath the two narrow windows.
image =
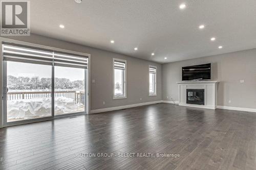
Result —
M103 108L103 109L95 109L95 110L91 110L90 114L108 112L108 111L113 111L113 110L121 110L121 109L126 109L126 108L144 106L144 105L153 105L153 104L157 104L157 103L162 103L162 101L144 102L144 103L137 103L137 104L132 104L132 105L124 105L124 106L109 107L109 108Z

